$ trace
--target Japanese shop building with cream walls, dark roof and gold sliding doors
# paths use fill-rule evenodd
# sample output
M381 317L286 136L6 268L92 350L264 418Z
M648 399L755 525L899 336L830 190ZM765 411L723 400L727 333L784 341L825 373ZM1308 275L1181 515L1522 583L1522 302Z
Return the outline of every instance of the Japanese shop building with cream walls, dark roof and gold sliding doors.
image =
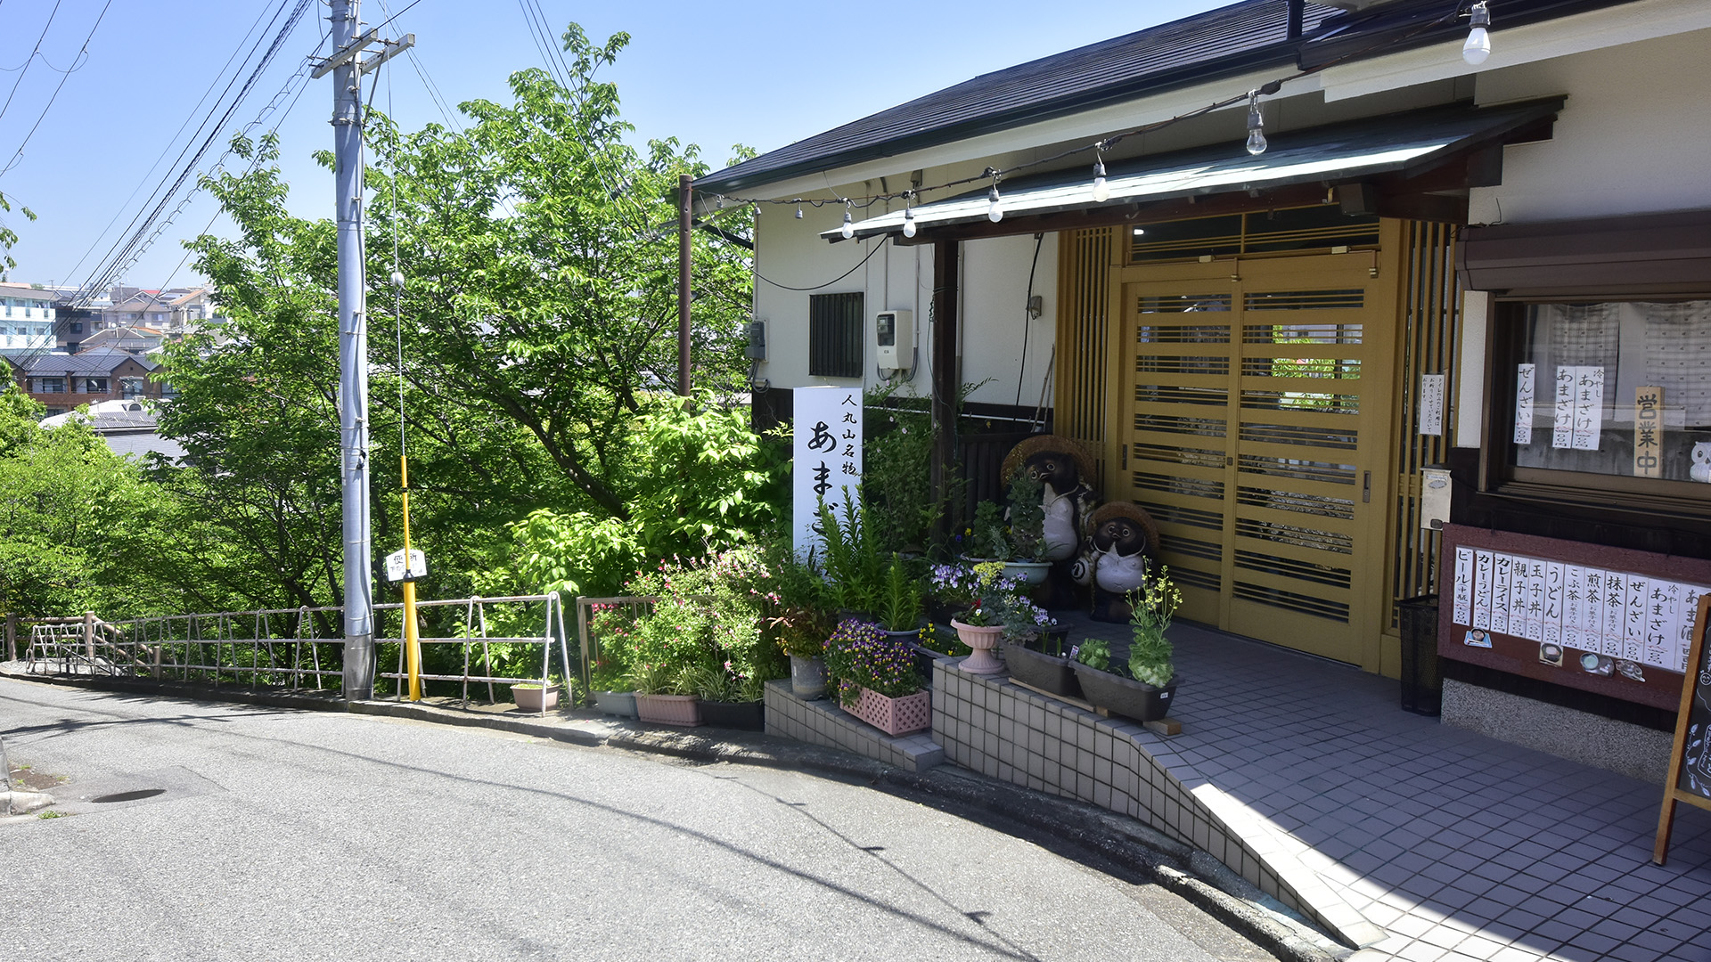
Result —
M1456 558L1711 585L1711 7L1492 0L1478 63L1471 14L1249 0L702 178L756 202L756 378L1044 402L1184 616L1394 676L1398 601L1439 594L1458 721L1667 741L1673 642L1586 652L1557 611L1554 664L1487 580L1468 645ZM1562 414L1569 370L1598 395Z

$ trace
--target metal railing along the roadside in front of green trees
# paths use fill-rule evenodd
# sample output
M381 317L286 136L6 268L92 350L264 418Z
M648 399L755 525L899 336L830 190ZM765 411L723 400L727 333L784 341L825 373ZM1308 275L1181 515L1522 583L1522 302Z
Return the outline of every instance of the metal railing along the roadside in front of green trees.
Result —
M402 635L402 608L376 604L376 625L392 621ZM464 705L469 704L471 683L488 686L489 704L498 700L496 685L549 685L554 642L561 676L571 678L578 671L570 659L565 608L558 594L419 601L416 608L419 623L428 628L417 638L424 662L431 661L426 654L433 647L460 649L452 659L460 662L459 673L423 671L421 678L459 683ZM31 674L156 678L282 692L335 692L344 678L342 608L217 611L127 621L86 615L26 625L31 628L26 673ZM402 638L376 637L375 642L397 645L397 669L382 671L380 678L394 681L394 697L404 698ZM527 674L498 673L524 664L530 666Z

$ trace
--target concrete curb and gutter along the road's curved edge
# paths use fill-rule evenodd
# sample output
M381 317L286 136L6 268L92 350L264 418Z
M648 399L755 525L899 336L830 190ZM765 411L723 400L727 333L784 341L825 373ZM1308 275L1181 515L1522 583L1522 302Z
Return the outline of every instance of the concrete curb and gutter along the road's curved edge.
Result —
M1333 962L1347 959L1352 953L1352 950L1338 947L1305 923L1288 919L1278 911L1266 907L1263 902L1264 895L1258 890L1244 890L1251 888L1246 882L1234 878L1228 871L1218 873L1210 870L1205 864L1210 859L1194 858L1196 851L1191 846L1177 842L1141 822L1122 818L1104 808L1080 801L987 779L955 765L907 772L850 751L821 748L761 733L720 731L715 736L712 729L660 729L589 719L590 726L604 727L604 731L599 731L563 721L465 712L411 702L344 702L342 698L320 695L252 692L233 686L186 685L181 681L99 676L44 678L5 669L0 669L0 678L36 685L164 695L200 702L233 702L322 712L344 710L358 716L411 719L457 727L486 727L583 748L666 755L691 762L731 762L767 769L806 770L849 781L864 781L879 789L910 791L941 798L984 811L994 818L1023 825L1032 832L1097 851L1100 856L1193 902L1283 962Z

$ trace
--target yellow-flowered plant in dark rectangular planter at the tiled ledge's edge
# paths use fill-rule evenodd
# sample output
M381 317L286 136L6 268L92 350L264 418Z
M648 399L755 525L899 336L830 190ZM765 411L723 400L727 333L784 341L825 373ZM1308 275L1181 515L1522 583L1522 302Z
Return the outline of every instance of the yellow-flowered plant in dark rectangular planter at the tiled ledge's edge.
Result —
M1093 705L1143 722L1158 721L1170 712L1175 698L1177 678L1165 628L1182 604L1182 592L1170 584L1170 568L1160 565L1158 573L1131 591L1128 601L1134 630L1129 661L1112 664L1110 645L1090 638L1078 649L1076 680Z

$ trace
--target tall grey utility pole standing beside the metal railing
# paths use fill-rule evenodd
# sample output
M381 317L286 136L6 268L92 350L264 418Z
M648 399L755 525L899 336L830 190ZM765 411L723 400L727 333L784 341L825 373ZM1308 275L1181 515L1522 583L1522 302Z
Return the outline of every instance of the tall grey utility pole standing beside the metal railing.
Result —
M339 460L344 490L344 697L375 693L375 572L368 539L368 305L363 274L363 74L416 43L409 34L361 60L375 31L358 34L358 0L332 0L334 192L339 211Z

